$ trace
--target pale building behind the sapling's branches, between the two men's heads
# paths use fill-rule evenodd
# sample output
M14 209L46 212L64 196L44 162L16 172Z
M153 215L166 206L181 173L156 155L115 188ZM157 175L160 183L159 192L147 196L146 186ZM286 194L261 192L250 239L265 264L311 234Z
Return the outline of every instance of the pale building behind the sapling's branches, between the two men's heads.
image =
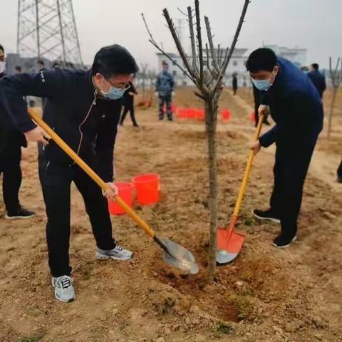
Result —
M182 62L182 58L175 53L167 53L175 63L178 63L185 70L185 66ZM177 86L193 86L192 81L188 78L185 73L183 73L180 68L177 67L175 63L166 58L162 53L157 53L158 58L158 72L162 71L162 61L167 61L169 63L169 71L175 78L175 83ZM204 69L207 68L207 55L204 52ZM238 85L249 86L249 74L246 71L246 61L247 61L247 48L235 48L232 58L229 61L229 65L224 76L224 83L227 86L232 86L232 74L237 74ZM191 60L191 58L190 58ZM209 65L212 66L212 56L209 56Z

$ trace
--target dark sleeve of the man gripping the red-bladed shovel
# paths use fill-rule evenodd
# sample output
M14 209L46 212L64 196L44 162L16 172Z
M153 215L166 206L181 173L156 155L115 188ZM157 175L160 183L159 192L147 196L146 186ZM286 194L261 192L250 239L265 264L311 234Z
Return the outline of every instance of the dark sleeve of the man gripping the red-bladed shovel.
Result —
M304 127L306 121L306 113L308 108L311 108L311 100L299 91L291 93L286 100L286 110L284 115L274 125L271 130L268 130L259 138L262 147L269 147L269 145L276 142L278 138L291 140L292 135L300 134L299 130Z

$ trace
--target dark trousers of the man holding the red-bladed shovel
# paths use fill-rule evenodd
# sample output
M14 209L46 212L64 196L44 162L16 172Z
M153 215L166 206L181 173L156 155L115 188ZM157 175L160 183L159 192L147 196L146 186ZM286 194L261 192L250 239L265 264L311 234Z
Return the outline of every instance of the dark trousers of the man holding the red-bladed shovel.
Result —
M281 233L294 237L301 209L304 181L308 172L316 138L280 142L276 145L274 190L271 209L280 217Z

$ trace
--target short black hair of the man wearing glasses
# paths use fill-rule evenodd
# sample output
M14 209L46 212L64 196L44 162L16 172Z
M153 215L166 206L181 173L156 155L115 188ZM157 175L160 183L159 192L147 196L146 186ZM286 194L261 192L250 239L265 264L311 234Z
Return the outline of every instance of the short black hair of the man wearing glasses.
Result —
M138 72L139 68L133 56L126 48L118 44L105 46L95 54L92 75L100 73L109 78L114 75L130 74Z

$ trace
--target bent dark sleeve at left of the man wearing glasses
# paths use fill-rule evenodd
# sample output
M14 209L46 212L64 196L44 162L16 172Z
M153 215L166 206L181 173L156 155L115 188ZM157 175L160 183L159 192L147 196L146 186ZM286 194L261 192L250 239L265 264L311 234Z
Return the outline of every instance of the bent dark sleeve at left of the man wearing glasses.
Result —
M25 133L36 125L29 118L24 96L40 98L70 96L73 89L73 78L63 71L41 71L34 75L21 73L6 76L0 80L1 91L6 97L10 115L14 117L17 128Z

